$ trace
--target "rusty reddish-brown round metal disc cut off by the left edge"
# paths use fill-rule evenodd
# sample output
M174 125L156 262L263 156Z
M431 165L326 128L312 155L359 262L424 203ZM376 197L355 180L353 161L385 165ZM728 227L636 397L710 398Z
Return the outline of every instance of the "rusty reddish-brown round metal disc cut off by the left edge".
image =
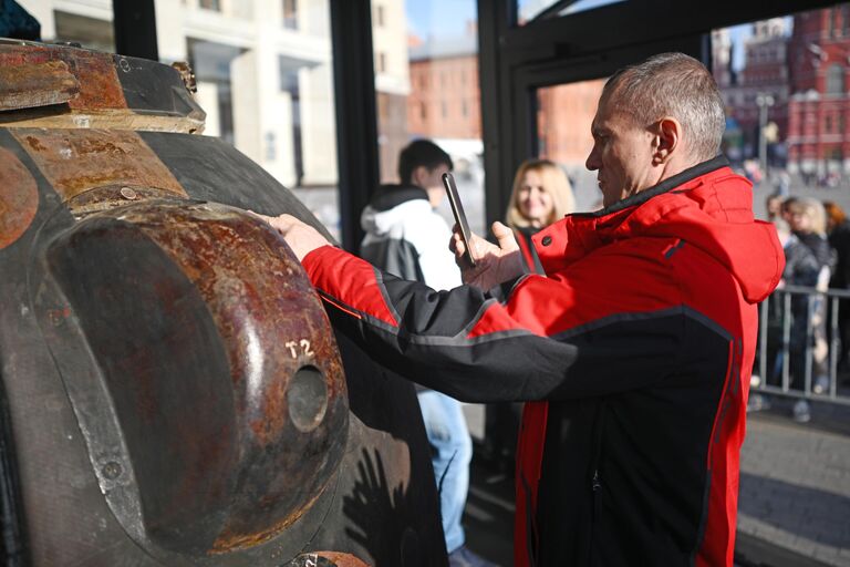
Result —
M29 228L39 207L35 179L8 150L0 147L0 250Z

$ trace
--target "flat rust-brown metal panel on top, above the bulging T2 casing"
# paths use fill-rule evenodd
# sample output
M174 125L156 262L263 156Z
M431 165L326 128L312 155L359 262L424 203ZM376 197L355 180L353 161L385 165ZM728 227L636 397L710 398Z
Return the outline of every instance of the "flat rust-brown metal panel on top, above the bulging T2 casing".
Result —
M104 185L155 187L186 195L135 132L13 128L11 133L63 199Z

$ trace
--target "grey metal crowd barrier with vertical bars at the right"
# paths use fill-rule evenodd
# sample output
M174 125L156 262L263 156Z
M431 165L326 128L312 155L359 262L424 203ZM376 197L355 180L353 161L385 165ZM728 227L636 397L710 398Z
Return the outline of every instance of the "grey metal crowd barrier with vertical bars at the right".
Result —
M795 297L806 297L806 327L805 339L802 339L801 323L795 326L792 301ZM751 392L764 392L771 394L786 395L791 398L804 398L808 400L827 401L850 405L850 395L839 394L838 392L838 361L840 349L848 349L850 344L841 344L839 330L839 301L850 300L850 291L842 289L818 290L817 288L786 286L777 289L774 293L759 306L759 336L758 336L758 374L759 383L751 384ZM778 302L778 305L777 305ZM800 302L797 307L799 308ZM780 307L780 309L777 309ZM850 301L847 301L843 309L850 309ZM771 313L773 311L773 313ZM799 312L797 316L799 317ZM776 318L779 317L777 321ZM771 321L771 317L774 320ZM815 348L817 327L822 326L826 330L825 339L828 347L828 380L827 384L812 384L812 371L815 367ZM776 337L770 337L780 330L779 348L770 349L770 341L776 343ZM792 333L798 334L792 337ZM791 352L792 341L797 341L798 348ZM775 352L771 352L775 351ZM801 352L800 352L801 351ZM802 363L802 388L792 388L792 379L799 381L800 377L794 377L791 371L791 357L805 357ZM799 370L800 365L795 364ZM768 377L776 377L779 373L781 382L779 385L769 383ZM820 377L815 377L820 378Z

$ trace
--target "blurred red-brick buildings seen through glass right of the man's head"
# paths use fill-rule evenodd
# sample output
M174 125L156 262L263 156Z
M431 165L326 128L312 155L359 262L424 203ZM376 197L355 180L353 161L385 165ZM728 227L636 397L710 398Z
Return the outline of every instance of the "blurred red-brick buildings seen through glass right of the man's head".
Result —
M850 185L850 4L715 30L712 51L723 152L756 184L756 203Z

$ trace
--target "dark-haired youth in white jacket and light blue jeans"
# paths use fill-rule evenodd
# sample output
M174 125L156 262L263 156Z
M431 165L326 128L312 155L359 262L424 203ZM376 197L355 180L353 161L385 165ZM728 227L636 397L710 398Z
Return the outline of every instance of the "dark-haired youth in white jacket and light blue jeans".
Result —
M445 196L442 176L452 171L449 155L427 140L407 145L398 156L398 185L382 185L363 209L366 233L361 257L374 266L436 290L462 284L455 256L446 246L452 236L434 210ZM432 446L434 477L439 492L443 532L449 566L491 565L470 551L460 525L469 488L473 442L460 402L416 386L425 432Z

